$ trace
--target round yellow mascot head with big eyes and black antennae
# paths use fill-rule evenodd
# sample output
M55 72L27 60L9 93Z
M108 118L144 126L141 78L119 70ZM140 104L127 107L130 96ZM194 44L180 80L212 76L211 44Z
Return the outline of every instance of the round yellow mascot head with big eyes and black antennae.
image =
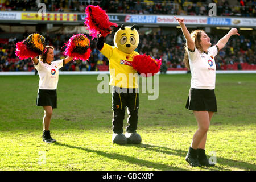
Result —
M122 24L121 28L115 32L115 47L125 53L133 52L139 44L139 33L137 30L139 30L137 25L125 27L125 25Z

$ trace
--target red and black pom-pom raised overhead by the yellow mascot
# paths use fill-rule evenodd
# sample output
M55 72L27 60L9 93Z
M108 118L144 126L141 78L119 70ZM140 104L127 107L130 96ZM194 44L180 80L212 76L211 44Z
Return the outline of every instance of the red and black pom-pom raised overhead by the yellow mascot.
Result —
M92 39L96 38L98 34L102 36L107 36L110 34L111 29L110 26L117 27L116 23L112 23L109 21L109 17L104 10L100 8L100 6L89 5L85 9L86 18L85 18L85 26L88 27L90 32L90 36Z

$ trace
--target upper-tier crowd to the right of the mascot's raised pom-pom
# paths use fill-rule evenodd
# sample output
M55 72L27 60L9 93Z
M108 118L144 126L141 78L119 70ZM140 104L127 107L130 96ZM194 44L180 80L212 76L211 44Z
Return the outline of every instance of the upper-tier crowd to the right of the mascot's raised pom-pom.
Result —
M92 2L92 1L90 1ZM229 5L228 1L94 1L94 5L100 5L109 13L130 14L176 14L176 15L199 15L208 16L209 4L216 3L218 16L244 16L255 17L254 0L236 1ZM83 6L84 4L81 4Z

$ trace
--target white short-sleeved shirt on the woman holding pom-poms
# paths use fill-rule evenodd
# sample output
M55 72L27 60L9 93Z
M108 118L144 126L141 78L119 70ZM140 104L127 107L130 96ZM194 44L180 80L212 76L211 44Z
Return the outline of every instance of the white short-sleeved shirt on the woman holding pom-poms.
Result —
M59 69L64 66L64 60L52 61L51 64L38 60L34 65L39 74L39 89L56 90L59 81Z

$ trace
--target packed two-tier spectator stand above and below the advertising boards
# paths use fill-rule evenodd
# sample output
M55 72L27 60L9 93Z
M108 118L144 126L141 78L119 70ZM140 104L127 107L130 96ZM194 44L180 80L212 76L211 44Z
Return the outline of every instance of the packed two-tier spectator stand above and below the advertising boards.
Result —
M36 11L35 1L4 1L0 5L1 11ZM81 11L87 5L100 5L107 12L129 14L172 14L172 15L206 15L207 3L218 3L218 13L221 16L249 16L255 17L255 1L38 1L46 3L47 10L53 12ZM168 6L167 6L168 5ZM170 5L170 6L169 6ZM124 8L125 7L125 8ZM166 7L166 8L165 8ZM197 9L197 7L200 7ZM201 8L205 7L205 9ZM245 9L245 10L243 10ZM153 28L152 28L153 29ZM156 28L155 28L156 29ZM172 32L159 27L156 31L140 32L140 43L137 52L151 55L155 59L162 58L163 69L187 70L184 68L184 37L179 28L173 28ZM239 30L238 30L239 31ZM0 28L0 34L4 31ZM73 34L39 32L47 44L55 47L55 60L63 59L64 49L61 47ZM232 36L228 44L216 57L216 65L219 70L256 69L255 31L241 36ZM9 34L10 35L10 34ZM0 71L34 71L32 61L19 60L15 56L15 44L24 40L28 32L15 32L10 38L0 38ZM224 36L224 33L208 33L212 45ZM87 35L89 37L89 35ZM113 45L114 32L106 38L106 43ZM108 59L96 49L96 39L91 41L92 54L89 61L74 61L65 65L63 71L106 71L109 69Z

